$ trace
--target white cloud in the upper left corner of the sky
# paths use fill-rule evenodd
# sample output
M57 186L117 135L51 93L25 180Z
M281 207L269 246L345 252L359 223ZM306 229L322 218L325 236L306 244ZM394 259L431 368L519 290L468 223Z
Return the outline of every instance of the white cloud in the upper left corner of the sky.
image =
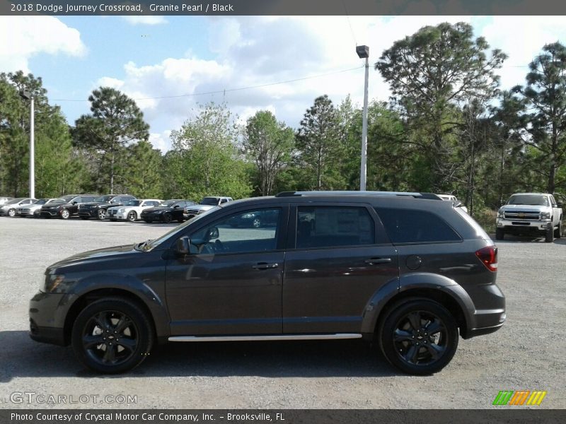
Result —
M79 31L53 16L0 16L0 40L0 68L6 72L29 72L36 54L86 54Z

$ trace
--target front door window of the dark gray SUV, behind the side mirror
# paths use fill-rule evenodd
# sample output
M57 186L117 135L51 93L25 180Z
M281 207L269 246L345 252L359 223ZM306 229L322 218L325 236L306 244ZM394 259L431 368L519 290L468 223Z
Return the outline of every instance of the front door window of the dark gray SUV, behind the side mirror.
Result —
M279 208L233 213L191 235L204 253L266 252L277 248ZM216 230L218 233L216 234Z

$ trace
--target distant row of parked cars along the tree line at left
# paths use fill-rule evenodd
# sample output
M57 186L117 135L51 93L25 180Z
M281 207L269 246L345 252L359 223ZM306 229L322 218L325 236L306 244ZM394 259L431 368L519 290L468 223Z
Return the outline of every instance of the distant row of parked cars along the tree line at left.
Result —
M78 216L83 220L144 220L171 223L190 219L215 206L233 200L231 197L207 196L197 204L189 199L137 199L131 194L70 194L57 199L0 198L0 216L33 216L35 218L69 219Z

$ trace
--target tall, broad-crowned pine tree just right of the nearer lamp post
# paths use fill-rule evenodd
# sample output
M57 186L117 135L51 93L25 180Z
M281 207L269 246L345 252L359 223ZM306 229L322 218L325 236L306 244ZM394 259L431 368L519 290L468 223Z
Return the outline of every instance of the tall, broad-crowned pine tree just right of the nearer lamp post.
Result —
M458 105L469 98L492 98L498 69L506 55L498 49L488 58L483 37L473 39L468 23L441 23L421 28L381 55L376 69L390 84L393 100L407 118L408 129L421 154L432 165L434 191L449 187L454 163Z

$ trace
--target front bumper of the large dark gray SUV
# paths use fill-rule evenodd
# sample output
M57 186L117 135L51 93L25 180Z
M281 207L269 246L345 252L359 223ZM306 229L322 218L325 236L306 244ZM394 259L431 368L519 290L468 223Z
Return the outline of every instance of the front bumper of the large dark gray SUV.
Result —
M67 295L37 292L30 300L30 337L42 343L65 346L64 310Z

